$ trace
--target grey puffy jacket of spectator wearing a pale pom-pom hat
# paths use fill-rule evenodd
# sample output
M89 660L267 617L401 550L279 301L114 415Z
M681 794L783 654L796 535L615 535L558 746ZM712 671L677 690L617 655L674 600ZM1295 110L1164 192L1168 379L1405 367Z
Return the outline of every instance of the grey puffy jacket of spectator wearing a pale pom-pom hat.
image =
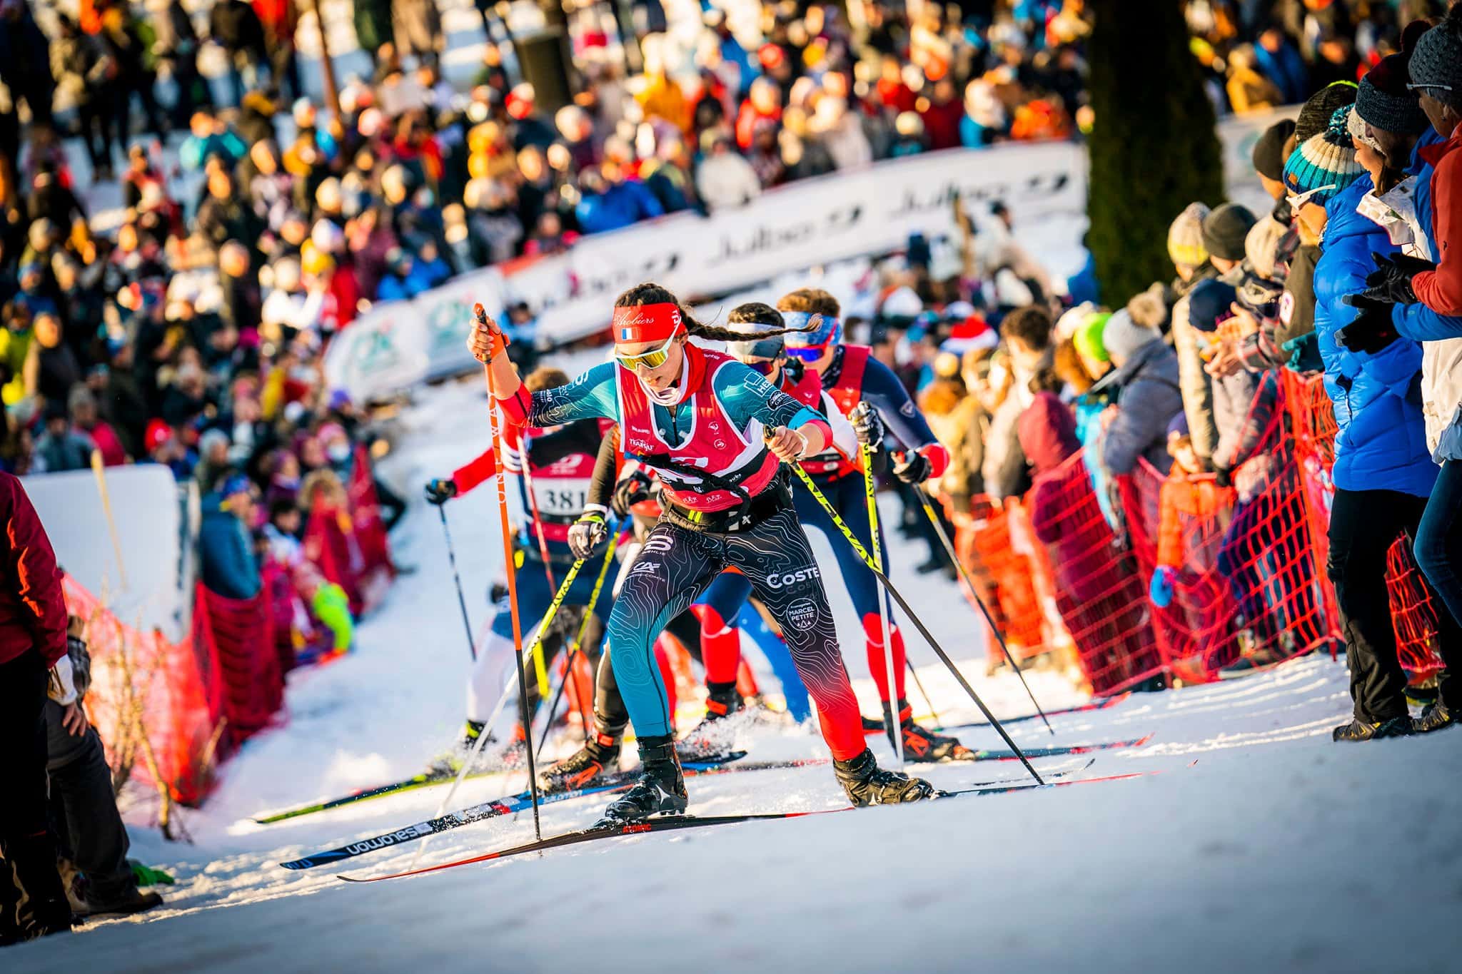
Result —
M1168 456L1168 422L1183 412L1178 391L1178 356L1154 339L1113 372L1117 393L1117 418L1101 438L1102 464L1113 475L1132 473L1137 459L1146 457L1159 473L1173 466Z

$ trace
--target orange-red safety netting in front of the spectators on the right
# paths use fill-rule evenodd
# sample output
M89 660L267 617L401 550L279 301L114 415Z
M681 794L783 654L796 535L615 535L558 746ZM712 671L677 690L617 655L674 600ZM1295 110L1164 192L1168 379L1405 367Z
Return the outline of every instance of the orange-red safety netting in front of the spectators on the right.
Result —
M1096 504L1082 456L1037 478L1004 510L978 498L956 518L955 551L1006 634L1028 659L1075 643L1095 692L1158 673L1215 679L1244 653L1287 659L1341 644L1325 571L1336 425L1320 377L1282 372L1273 409L1247 418L1257 444L1234 473L1164 478L1142 463L1116 478L1118 537ZM1148 596L1174 570L1165 607ZM1412 679L1442 669L1436 606L1398 537L1387 556L1398 653ZM1054 610L1053 610L1054 609Z

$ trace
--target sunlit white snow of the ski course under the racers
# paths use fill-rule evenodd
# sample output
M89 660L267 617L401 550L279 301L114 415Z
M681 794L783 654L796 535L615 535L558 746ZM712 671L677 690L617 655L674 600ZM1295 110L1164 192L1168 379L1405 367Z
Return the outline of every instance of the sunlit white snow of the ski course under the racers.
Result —
M575 362L582 367L585 362ZM386 464L420 485L487 444L481 387L424 393ZM415 495L415 492L412 492ZM447 508L472 621L501 562L493 492ZM896 514L885 498L885 515ZM289 678L288 723L225 765L194 844L164 841L152 810L129 810L133 856L178 878L145 920L0 954L16 971L482 970L991 970L1456 971L1462 946L1462 730L1333 745L1349 711L1344 659L1307 659L1246 680L1137 694L1105 711L1012 726L1022 745L1154 735L1108 751L1082 775L1145 777L898 809L867 809L601 841L370 886L282 859L434 813L440 789L272 827L247 818L420 770L458 730L468 653L436 513L415 505L395 536L402 577L360 648ZM842 543L841 540L838 543ZM827 564L830 548L813 536ZM893 578L997 714L1029 713L1012 676L984 678L982 631L958 588L911 565L892 539ZM836 572L829 571L829 578ZM864 713L876 697L846 596L833 609ZM975 718L912 628L911 656L944 723ZM754 657L754 654L751 654ZM766 678L772 683L772 678ZM1080 702L1060 676L1031 675L1047 707ZM917 691L918 711L927 710ZM993 729L963 735L999 748ZM870 739L892 759L887 742ZM762 727L750 759L825 756L806 729ZM1070 758L1039 767L1072 767ZM1019 765L924 771L956 789L1018 780ZM699 813L833 809L826 767L692 778ZM523 787L469 781L463 808ZM544 831L586 825L602 796L544 809ZM531 815L430 840L437 863L532 837ZM423 843L349 863L406 867ZM313 894L313 895L306 895ZM13 967L12 967L13 965Z

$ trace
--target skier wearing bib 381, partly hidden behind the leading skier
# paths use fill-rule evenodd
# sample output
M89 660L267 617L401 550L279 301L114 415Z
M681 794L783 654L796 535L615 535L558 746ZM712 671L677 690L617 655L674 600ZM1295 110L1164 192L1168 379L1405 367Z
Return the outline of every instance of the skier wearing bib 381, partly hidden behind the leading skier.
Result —
M556 368L539 368L523 383L534 393L567 384L569 377ZM554 590L548 584L548 571L544 570L544 549L547 549L547 564L554 578L563 580L573 564L567 534L573 523L583 514L589 478L594 473L599 442L607 426L608 423L604 421L589 418L526 432L519 426L507 429L507 437L503 441L503 453L506 454L503 469L518 475L525 518L518 530L515 558L518 609L523 619L539 619L554 596ZM427 482L427 501L446 504L487 480L496 472L497 459L493 448L488 447L475 460L455 470L452 476ZM539 545L539 532L542 533L542 545ZM569 587L564 606L586 606L592 591L594 572L580 572L573 586ZM601 591L595 615L599 619L608 618L613 603L614 594L608 590ZM598 638L586 640L586 645L591 647L591 659L594 659L598 644ZM545 644L545 650L550 648L557 648L557 643ZM468 680L466 692L466 730L447 753L431 764L430 771L456 772L461 768L461 761L475 745L478 735L484 730L493 730L485 727L485 721L491 717L503 688L516 685L513 667L513 626L504 597L497 605L488 637L478 648L477 662L472 664L472 678ZM538 683L531 682L529 708L537 708L538 702ZM531 714L518 711L519 707L515 702L509 713L516 714L519 726L512 733L504 752L496 755L496 761L503 767L522 764L522 729Z

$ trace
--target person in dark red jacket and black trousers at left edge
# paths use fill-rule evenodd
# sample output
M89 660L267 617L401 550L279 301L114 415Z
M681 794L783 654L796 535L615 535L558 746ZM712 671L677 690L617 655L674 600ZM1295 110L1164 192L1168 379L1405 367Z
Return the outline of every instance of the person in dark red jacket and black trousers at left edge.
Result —
M56 552L20 480L0 473L0 847L29 897L22 916L0 916L0 945L72 929L47 827L45 698L76 702L66 656L66 603ZM53 669L54 667L54 669ZM70 699L66 699L66 695Z

